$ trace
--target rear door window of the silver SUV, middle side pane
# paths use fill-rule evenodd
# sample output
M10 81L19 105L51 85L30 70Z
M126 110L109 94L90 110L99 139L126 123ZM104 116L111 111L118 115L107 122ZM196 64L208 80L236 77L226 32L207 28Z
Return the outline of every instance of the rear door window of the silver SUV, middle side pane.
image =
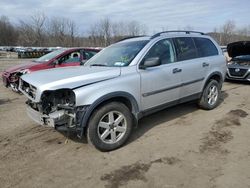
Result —
M177 60L183 61L197 58L197 50L190 37L180 37L174 39L176 44Z

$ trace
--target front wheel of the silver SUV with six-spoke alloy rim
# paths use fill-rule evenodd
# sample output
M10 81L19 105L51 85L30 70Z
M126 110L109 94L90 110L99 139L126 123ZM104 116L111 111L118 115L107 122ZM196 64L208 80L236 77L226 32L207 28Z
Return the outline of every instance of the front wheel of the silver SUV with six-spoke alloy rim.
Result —
M131 133L132 119L127 106L119 102L97 108L88 123L88 143L91 142L100 151L121 147Z

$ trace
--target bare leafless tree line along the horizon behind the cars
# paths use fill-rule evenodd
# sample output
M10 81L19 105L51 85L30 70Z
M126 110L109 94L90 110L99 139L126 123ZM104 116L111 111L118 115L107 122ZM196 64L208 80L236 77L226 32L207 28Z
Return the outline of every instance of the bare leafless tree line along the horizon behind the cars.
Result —
M69 18L48 18L44 13L36 13L28 20L13 24L7 16L0 17L0 46L105 47L122 38L146 33L147 27L136 21L114 22L104 18L91 24L83 35ZM250 40L250 25L238 28L234 21L229 20L208 34L220 45L227 45L234 41Z

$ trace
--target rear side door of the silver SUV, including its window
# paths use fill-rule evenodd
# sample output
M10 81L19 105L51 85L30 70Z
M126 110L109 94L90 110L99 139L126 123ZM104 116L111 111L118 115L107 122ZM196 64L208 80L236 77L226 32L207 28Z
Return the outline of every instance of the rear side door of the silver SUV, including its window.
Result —
M178 37L174 39L177 61L180 63L181 83L180 98L195 97L202 90L205 72L209 66L208 58L199 58L193 38Z

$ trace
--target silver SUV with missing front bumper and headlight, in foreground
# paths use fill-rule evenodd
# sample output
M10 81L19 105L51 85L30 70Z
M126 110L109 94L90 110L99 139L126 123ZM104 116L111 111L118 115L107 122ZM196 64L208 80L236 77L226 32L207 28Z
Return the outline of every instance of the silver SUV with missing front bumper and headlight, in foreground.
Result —
M86 135L97 149L110 151L150 113L190 100L215 108L225 73L225 58L212 38L165 31L122 40L81 67L23 75L19 89L34 121Z

